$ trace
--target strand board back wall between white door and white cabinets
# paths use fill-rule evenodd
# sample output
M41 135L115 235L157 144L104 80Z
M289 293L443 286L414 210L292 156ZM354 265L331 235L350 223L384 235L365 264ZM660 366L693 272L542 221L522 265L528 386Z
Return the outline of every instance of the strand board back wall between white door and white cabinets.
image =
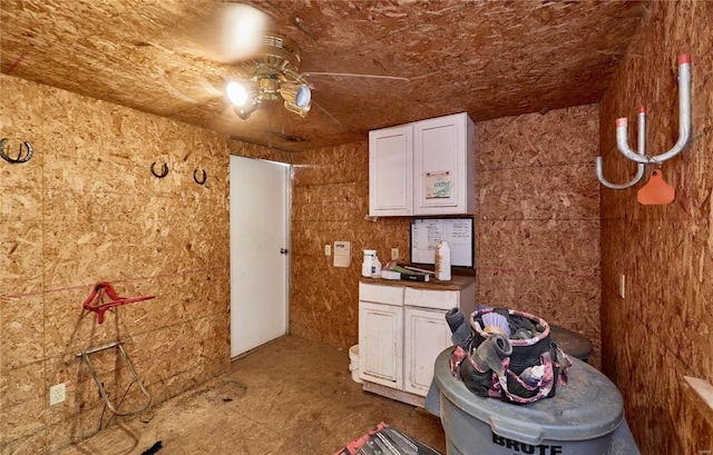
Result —
M364 249L382 264L399 248L409 260L409 218L364 219L369 212L367 142L293 154L290 329L349 348L359 338L359 277ZM351 241L349 268L332 265L324 245Z

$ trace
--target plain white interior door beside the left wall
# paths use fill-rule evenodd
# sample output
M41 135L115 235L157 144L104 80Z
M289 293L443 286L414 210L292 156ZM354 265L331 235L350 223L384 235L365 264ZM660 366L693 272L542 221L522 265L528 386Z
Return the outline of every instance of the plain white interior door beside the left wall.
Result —
M287 333L290 167L231 156L231 357Z

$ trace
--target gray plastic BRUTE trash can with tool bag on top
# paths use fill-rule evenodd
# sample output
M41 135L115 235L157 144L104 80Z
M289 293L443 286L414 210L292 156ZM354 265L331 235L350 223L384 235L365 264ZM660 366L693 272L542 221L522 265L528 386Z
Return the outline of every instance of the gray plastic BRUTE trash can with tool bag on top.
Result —
M515 405L468 390L450 372L452 349L438 356L433 372L448 455L639 453L622 395L590 365L572 358L569 382L554 397Z

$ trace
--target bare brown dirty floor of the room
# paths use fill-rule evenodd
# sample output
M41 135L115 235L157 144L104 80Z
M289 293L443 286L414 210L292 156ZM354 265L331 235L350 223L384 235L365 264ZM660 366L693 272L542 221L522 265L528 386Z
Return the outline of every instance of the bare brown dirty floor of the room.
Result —
M382 421L446 453L439 418L362 392L346 349L286 336L60 455L139 455L158 441L157 455L332 455Z

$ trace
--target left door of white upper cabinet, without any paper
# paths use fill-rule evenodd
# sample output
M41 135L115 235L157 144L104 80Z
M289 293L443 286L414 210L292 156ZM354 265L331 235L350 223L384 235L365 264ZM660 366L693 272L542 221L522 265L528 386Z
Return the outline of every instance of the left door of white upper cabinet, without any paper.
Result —
M413 212L411 123L369 131L369 215Z

